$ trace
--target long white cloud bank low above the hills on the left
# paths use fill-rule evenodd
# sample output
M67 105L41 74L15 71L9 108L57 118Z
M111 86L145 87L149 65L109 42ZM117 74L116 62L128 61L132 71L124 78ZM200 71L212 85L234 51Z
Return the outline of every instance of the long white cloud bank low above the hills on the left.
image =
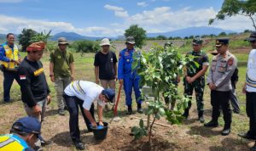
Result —
M2 14L0 14L0 20L5 20L4 22L0 22L0 33L20 33L24 28L31 28L35 31L52 30L53 34L61 31L77 32L85 36L117 36L123 34L123 30L120 29L110 29L98 26L76 28L71 23L67 22L30 20L26 18L9 17Z

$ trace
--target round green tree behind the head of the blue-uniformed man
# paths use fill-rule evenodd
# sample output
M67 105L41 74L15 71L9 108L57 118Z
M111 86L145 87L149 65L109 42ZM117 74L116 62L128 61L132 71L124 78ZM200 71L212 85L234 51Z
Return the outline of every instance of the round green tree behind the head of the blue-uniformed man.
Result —
M146 31L138 25L131 25L125 30L125 37L133 36L138 48L143 48L144 40L147 38Z

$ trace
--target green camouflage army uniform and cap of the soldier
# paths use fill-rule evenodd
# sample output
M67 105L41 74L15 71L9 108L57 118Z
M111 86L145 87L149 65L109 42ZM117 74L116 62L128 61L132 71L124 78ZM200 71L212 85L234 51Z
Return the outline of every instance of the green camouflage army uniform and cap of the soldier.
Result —
M193 44L195 45L199 45L201 43L202 43L202 40L199 38L196 38L193 40ZM190 84L188 81L186 81L186 76L189 76L189 77L195 76L198 72L202 70L204 65L207 65L207 66L209 65L209 59L207 57L207 54L204 53L202 50L199 52L191 51L187 53L187 55L192 55L194 57L194 61L189 62L189 64L187 64L185 67L186 75L184 76L184 79L183 79L184 96L192 98L193 90L195 89L195 98L196 98L198 117L199 119L202 118L201 122L203 122L204 121L203 94L204 94L204 87L205 87L205 76L200 76ZM197 66L195 63L199 64L199 66ZM183 116L185 117L189 116L190 108L191 108L191 101L189 101L188 108L185 109Z

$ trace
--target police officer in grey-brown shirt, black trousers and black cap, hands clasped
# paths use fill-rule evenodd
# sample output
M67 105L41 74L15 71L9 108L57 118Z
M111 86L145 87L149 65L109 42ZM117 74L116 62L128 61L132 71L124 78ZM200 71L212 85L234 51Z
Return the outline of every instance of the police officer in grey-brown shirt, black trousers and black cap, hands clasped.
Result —
M218 126L220 108L224 115L223 136L230 134L232 112L230 109L230 91L232 89L230 77L236 70L236 57L229 52L229 39L219 38L216 40L218 55L212 59L211 69L207 76L207 85L211 89L212 120L205 124L207 127Z

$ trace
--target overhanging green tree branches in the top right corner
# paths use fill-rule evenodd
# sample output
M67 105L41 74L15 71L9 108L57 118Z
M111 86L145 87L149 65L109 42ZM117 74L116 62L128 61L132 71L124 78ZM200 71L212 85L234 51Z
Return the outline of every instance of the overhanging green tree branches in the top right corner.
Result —
M256 31L256 1L255 0L224 0L224 3L216 15L215 19L209 20L211 25L214 20L224 20L226 16L241 14L247 16L253 22Z

